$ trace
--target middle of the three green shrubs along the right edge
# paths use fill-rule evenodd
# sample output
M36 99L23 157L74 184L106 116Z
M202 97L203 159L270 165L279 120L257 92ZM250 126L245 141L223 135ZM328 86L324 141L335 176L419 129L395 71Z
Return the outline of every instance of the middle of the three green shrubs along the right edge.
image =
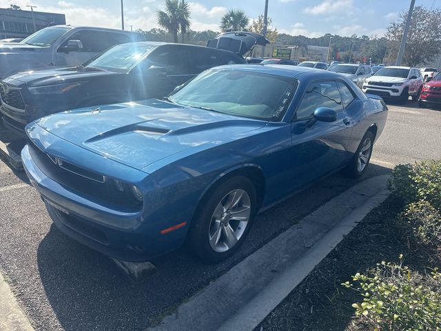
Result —
M424 200L410 203L398 217L409 224L413 235L426 244L441 244L441 213Z

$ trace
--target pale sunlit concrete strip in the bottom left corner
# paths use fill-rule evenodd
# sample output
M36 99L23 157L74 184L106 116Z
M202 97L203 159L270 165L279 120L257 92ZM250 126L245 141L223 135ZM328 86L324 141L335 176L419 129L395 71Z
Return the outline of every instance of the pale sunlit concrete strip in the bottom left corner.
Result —
M8 283L0 273L0 330L32 331L28 317L21 310Z

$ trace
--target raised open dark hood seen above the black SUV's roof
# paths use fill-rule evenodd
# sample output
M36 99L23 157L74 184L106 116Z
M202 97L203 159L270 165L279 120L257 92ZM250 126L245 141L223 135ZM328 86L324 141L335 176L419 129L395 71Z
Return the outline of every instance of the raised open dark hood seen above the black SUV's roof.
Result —
M244 56L254 45L265 46L269 42L262 34L254 32L225 32L209 40L207 47L229 50Z

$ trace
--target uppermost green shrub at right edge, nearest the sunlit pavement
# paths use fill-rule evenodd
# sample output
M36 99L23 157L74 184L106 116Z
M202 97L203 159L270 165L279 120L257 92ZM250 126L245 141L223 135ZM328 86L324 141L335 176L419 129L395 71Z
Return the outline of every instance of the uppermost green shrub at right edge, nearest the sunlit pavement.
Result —
M406 203L425 200L441 210L441 160L397 165L388 188Z

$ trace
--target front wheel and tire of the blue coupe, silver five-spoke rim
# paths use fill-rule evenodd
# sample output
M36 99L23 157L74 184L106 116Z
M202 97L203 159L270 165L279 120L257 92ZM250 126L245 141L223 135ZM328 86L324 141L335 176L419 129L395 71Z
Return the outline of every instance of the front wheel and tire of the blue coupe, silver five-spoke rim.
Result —
M234 204L228 207L230 202ZM204 263L231 257L247 237L256 212L257 194L252 182L242 176L226 179L202 199L189 230L189 247ZM239 214L243 219L236 219Z

